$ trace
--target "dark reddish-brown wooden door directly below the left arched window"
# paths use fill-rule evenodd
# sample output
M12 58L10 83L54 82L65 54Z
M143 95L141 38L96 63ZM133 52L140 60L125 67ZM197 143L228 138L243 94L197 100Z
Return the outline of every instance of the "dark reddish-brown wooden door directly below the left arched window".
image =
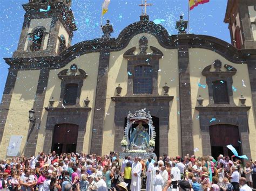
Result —
M52 139L52 151L56 151L58 154L76 152L77 137L78 125L55 125Z

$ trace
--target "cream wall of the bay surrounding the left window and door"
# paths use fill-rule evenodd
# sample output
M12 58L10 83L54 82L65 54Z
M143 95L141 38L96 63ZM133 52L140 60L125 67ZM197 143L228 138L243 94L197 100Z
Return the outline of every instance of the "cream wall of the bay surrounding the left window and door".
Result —
M85 72L88 74L88 76L84 80L83 87L81 90L80 102L79 102L80 107L84 107L83 100L85 100L87 96L90 100L89 107L91 108L94 107L95 96L96 96L95 90L96 90L97 75L98 75L99 53L84 54L82 56L79 56L79 58L72 60L68 65L66 65L63 68L50 70L48 88L45 94L44 107L49 107L49 100L51 99L51 97L53 97L53 100L55 100L53 107L57 107L59 97L60 97L60 83L61 83L61 80L58 78L57 74L63 69L69 69L73 63L76 63L78 68L85 70ZM93 111L94 110L91 110L89 112L89 116L87 118L86 132L84 135L83 151L86 153L90 152ZM48 115L48 112L43 110L41 129L39 131L39 136L37 140L36 153L43 150L47 115Z

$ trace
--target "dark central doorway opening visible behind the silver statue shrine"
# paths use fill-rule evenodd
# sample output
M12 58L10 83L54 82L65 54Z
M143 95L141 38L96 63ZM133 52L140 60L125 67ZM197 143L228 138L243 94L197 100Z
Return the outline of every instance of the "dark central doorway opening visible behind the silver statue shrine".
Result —
M156 146L154 147L154 153L156 153L157 157L159 158L159 152L160 152L160 148L159 148L159 118L158 117L154 117L154 116L151 116L152 117L152 121L153 121L153 125L154 125L154 131L156 132L156 138L155 138L155 143L156 143ZM127 124L127 118L125 117L125 123L124 123L124 127L126 126ZM134 128L136 128L136 124L132 124L132 131ZM149 125L143 125L146 129L149 129ZM129 136L130 138L130 136Z

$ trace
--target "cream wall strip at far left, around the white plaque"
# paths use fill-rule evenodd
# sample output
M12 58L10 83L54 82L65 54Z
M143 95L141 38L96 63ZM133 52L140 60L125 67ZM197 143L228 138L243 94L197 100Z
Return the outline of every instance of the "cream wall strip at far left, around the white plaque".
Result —
M30 126L29 110L33 108L38 78L39 70L18 71L11 98L9 115L5 123L0 158L5 158L9 140L12 135L23 137L19 155L24 154L26 137L28 136Z

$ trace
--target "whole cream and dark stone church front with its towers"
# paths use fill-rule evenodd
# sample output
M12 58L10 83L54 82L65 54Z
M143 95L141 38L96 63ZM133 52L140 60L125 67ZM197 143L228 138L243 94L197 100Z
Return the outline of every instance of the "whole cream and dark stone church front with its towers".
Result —
M48 5L47 13L39 11ZM70 6L23 5L17 51L5 58L0 158L119 152L127 115L138 110L150 111L157 155L231 155L232 144L256 158L255 2L228 1L232 45L185 32L170 36L143 15L117 38L107 23L102 38L71 46L77 27Z

